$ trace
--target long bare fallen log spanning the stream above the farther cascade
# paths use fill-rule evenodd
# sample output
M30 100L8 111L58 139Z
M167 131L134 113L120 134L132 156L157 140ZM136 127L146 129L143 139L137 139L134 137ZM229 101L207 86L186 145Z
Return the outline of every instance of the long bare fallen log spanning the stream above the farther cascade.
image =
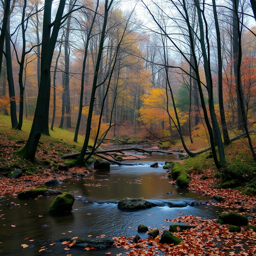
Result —
M111 149L111 150L96 150L93 152L93 155L95 154L104 154L104 153L111 153L111 152L122 152L122 151L137 151L140 153L148 153L148 154L152 154L152 153L163 153L163 154L169 154L172 155L173 152L171 151L162 151L162 150L145 150L143 148L137 148L137 147L128 147L128 148L118 148L118 149ZM85 154L89 155L91 153L91 151L87 151ZM72 154L68 154L68 155L63 155L60 158L62 159L74 159L77 158L80 155L80 152L77 153L72 153Z

